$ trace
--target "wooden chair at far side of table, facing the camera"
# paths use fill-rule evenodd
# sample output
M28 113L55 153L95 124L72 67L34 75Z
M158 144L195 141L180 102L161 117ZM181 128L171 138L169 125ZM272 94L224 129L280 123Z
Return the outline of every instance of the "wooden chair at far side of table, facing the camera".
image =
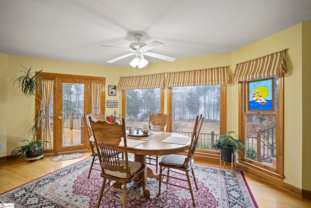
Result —
M163 113L151 113L149 112L149 129L152 132L167 132L167 126L170 120L171 112L168 114ZM166 127L166 130L164 130ZM148 155L146 157L147 164L149 165L155 165L155 172L157 173L158 170L158 156L157 155ZM151 161L155 161L155 163L152 163Z

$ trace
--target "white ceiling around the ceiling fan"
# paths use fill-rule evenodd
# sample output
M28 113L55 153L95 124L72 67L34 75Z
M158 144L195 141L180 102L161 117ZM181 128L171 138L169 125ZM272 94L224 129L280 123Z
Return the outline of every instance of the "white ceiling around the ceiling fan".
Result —
M0 0L0 53L128 66L133 35L176 59L230 52L311 21L311 0ZM163 61L145 57L149 62Z

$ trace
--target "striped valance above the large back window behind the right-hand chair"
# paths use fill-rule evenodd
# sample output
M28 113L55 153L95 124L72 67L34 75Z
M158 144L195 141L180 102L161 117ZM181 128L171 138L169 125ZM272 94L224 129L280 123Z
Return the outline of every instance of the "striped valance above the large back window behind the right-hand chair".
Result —
M228 67L168 73L167 87L228 84Z

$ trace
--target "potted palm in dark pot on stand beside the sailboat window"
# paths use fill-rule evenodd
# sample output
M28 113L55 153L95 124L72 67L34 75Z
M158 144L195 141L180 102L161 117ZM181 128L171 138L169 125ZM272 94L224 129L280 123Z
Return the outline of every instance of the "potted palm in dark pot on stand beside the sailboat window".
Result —
M230 134L234 132L225 132L224 135L220 135L219 139L213 145L215 150L221 151L221 160L225 162L236 162L236 155L235 152L240 152L240 147L244 148L244 144L238 140L233 138ZM233 154L233 160L231 155Z

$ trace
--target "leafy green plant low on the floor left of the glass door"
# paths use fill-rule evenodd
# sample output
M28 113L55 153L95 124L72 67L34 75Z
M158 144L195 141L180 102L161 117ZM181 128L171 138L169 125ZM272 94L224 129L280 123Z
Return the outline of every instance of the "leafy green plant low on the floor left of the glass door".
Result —
M25 145L16 147L12 152L11 155L19 155L22 159L24 157L36 157L40 155L43 151L43 145L44 143L49 143L48 141L43 140L31 140L24 139L20 142L28 142L25 143Z

